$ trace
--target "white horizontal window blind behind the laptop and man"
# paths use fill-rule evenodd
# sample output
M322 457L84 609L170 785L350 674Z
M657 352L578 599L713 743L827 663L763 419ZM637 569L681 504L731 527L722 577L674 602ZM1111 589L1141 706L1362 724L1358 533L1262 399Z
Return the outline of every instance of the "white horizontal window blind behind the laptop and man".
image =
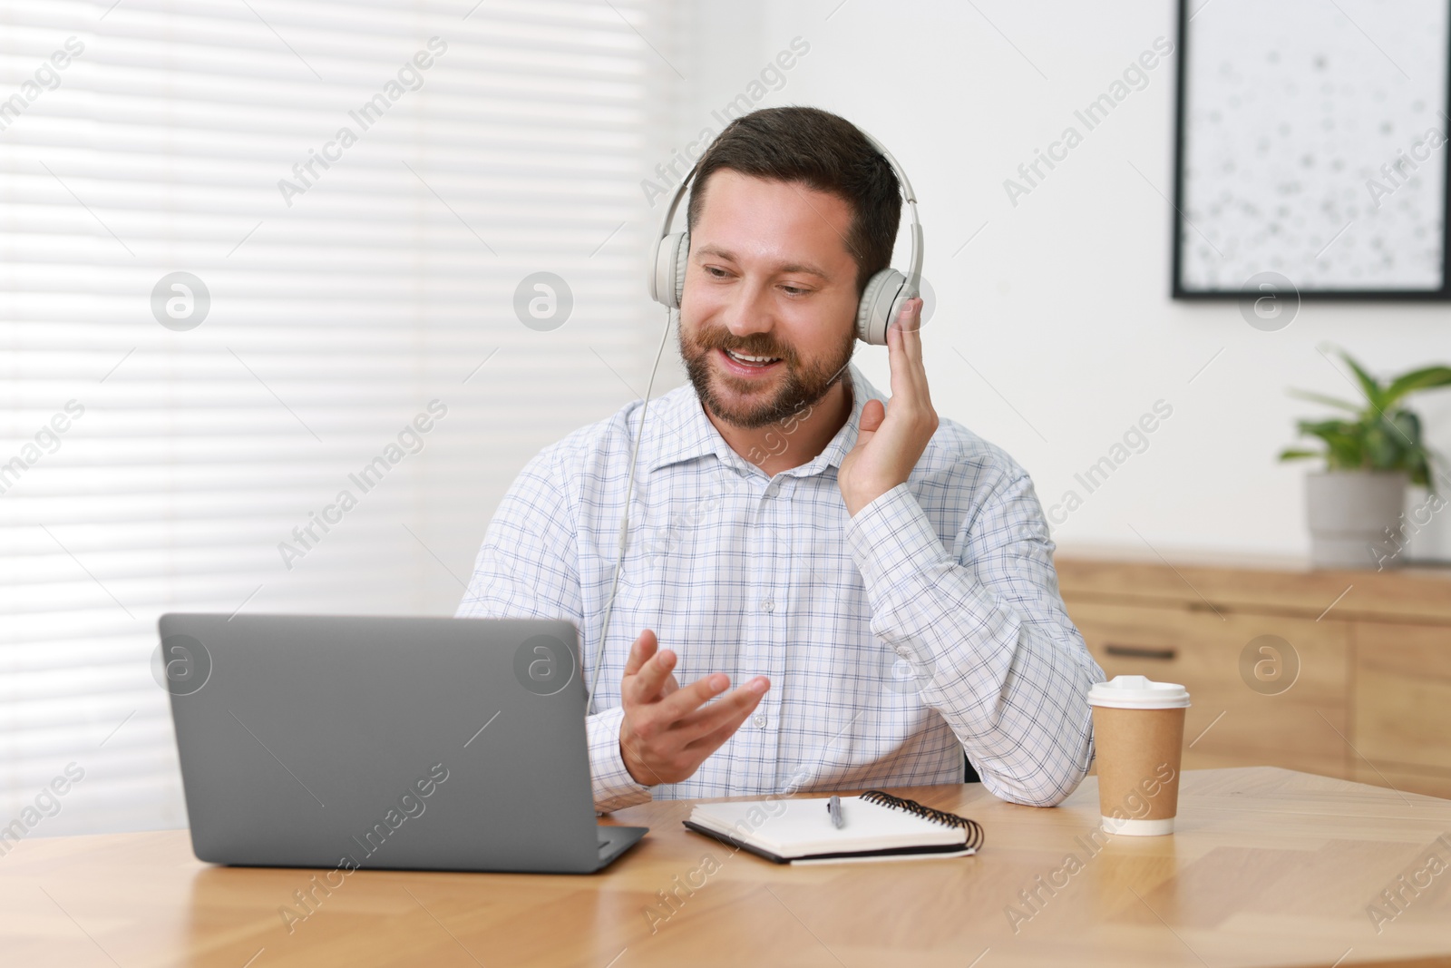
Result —
M160 614L451 614L518 469L644 390L672 30L0 6L0 853L186 823Z

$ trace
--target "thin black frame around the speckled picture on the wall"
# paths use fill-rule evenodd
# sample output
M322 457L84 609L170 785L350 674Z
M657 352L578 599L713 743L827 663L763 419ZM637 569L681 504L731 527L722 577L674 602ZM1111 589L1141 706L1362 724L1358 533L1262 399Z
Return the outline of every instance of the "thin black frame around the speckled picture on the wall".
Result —
M1193 6L1193 10L1191 10ZM1191 289L1184 284L1184 235L1196 231L1184 215L1184 168L1185 168L1185 109L1188 102L1188 67L1193 57L1190 42L1190 20L1199 10L1207 6L1206 0L1178 0L1178 64L1175 77L1175 110L1174 110L1174 218L1172 218L1172 266L1171 266L1171 298L1177 300L1245 300L1251 295L1264 295L1265 283L1257 287L1242 283L1233 289ZM1445 44L1442 46L1447 58L1445 71L1445 102L1441 112L1442 119L1451 118L1451 10L1447 13ZM1447 136L1451 138L1451 123L1447 125ZM1444 177L1442 210L1441 210L1441 286L1438 289L1304 289L1293 286L1293 295L1306 300L1341 300L1341 302L1445 302L1451 300L1451 144L1438 149L1441 152L1441 170ZM1251 279L1255 279L1252 276ZM1274 287L1278 292L1278 286ZM1287 290L1288 292L1288 290Z

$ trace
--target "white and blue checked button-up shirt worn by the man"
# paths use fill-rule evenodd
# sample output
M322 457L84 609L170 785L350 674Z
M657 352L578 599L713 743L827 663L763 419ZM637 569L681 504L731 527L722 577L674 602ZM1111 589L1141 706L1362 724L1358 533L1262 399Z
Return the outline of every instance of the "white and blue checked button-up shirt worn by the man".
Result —
M907 483L849 517L837 467L862 406L814 460L766 476L692 386L651 401L628 547L588 717L595 808L962 782L1052 805L1093 759L1103 670L1068 618L1032 480L942 418ZM641 402L535 456L489 524L459 617L567 618L589 684L618 556ZM779 428L789 432L789 424ZM653 628L686 685L724 672L770 691L694 776L644 787L620 756L620 679Z

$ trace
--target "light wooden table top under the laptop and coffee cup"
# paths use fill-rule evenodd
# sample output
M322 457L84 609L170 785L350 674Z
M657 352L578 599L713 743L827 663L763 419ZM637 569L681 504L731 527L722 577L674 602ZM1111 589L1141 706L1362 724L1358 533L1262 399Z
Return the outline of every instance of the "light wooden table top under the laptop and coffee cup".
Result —
M1274 768L1183 782L1178 833L1096 852L1094 778L1056 810L898 789L979 820L985 850L815 868L734 853L659 801L614 814L651 833L604 874L360 871L290 933L279 910L312 871L212 868L181 830L26 840L0 858L0 964L1451 965L1451 801ZM1423 887L1397 911L1400 875Z

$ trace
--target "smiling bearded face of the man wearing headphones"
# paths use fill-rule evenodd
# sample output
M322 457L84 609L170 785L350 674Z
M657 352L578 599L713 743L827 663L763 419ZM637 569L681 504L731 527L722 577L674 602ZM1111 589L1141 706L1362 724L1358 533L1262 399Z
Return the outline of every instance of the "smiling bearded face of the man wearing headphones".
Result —
M765 427L842 377L856 341L850 223L847 202L804 184L710 177L691 229L681 358L714 417Z

